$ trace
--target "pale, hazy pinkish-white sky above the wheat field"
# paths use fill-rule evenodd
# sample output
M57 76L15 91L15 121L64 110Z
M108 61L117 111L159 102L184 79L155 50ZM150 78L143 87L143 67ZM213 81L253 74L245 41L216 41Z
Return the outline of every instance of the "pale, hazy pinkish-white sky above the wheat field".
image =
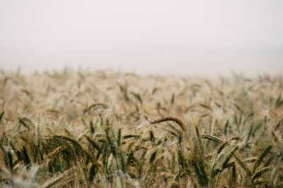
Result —
M283 73L283 1L0 0L0 68Z

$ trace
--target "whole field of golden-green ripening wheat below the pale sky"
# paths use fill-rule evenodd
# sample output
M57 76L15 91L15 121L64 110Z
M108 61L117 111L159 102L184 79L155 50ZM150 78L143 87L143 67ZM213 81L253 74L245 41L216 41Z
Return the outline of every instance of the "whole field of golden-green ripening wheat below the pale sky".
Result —
M0 72L0 187L283 186L282 75Z

